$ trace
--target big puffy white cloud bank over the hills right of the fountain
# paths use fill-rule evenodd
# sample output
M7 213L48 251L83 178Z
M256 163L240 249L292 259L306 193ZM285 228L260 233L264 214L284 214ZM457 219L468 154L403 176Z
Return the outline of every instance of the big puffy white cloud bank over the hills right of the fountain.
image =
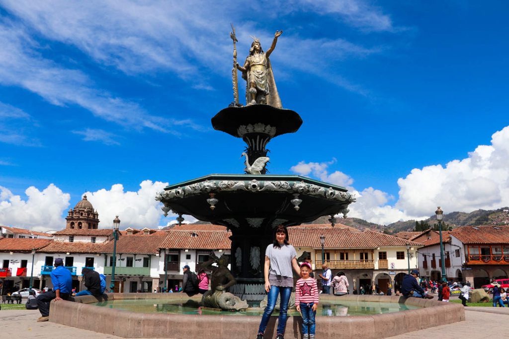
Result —
M479 145L468 158L442 165L414 168L398 179L399 197L372 187L356 190L347 174L327 168L334 160L323 163L300 162L291 170L322 181L342 184L357 197L350 205L350 217L378 224L400 220L425 219L441 206L446 212L470 212L509 206L509 126L492 135L491 145Z

